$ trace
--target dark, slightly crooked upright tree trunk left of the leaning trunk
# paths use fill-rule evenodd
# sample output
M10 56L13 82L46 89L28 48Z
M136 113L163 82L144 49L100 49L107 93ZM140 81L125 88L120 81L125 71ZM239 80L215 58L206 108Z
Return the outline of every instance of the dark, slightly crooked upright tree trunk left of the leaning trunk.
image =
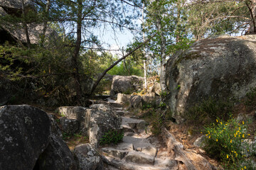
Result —
M78 0L78 18L77 18L77 40L75 42L75 50L72 57L73 77L75 79L76 103L82 104L82 88L80 84L80 75L78 67L78 57L82 40L82 0Z

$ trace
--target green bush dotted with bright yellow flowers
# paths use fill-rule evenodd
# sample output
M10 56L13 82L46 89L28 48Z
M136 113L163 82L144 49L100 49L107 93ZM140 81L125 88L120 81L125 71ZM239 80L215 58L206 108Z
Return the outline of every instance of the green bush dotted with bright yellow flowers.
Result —
M211 156L220 159L227 169L252 169L246 155L252 148L246 142L247 125L232 118L228 121L215 120L205 128L206 140L204 149Z

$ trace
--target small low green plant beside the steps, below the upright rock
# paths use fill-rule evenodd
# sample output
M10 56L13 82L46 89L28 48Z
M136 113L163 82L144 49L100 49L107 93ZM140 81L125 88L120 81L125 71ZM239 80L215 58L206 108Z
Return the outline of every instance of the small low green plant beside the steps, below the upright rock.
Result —
M105 144L117 144L122 141L124 137L124 132L122 130L109 130L100 139L100 145Z

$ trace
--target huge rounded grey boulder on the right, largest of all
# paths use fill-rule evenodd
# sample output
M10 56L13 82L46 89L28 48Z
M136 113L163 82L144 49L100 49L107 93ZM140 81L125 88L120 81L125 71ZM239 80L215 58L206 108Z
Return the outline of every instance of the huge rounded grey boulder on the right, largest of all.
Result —
M204 99L242 98L256 85L256 35L207 38L166 64L167 105L177 122Z

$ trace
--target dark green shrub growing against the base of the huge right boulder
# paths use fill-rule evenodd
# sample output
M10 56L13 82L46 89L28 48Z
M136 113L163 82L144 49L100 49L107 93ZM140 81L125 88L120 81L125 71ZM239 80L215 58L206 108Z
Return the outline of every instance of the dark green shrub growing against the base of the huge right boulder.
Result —
M230 101L215 101L213 98L208 98L189 108L185 115L188 121L209 124L217 118L228 120L232 112L233 104Z

